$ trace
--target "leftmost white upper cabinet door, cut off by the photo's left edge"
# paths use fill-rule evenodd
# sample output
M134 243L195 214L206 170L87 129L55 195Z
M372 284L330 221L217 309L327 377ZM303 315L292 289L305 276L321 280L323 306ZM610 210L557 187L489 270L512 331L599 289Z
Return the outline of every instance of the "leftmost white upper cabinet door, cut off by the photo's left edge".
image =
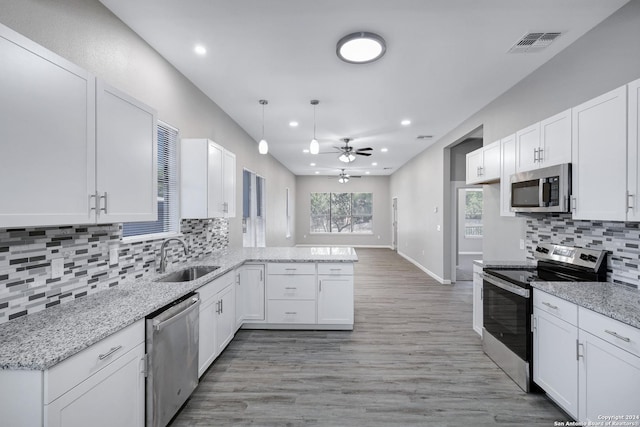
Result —
M95 78L0 25L0 228L95 221Z

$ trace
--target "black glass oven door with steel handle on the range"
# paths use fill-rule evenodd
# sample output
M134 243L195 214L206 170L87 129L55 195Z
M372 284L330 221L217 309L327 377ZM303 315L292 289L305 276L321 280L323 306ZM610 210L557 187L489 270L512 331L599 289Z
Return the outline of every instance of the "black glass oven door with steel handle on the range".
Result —
M531 361L531 299L529 289L484 275L483 323L494 338L520 359Z

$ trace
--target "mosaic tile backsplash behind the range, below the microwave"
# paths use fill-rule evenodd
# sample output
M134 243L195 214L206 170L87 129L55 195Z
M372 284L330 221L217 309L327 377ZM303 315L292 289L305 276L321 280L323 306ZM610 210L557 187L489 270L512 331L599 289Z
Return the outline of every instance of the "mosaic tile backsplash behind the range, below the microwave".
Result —
M527 258L533 258L536 244L549 242L584 248L604 249L607 281L640 287L640 223L573 220L570 214L527 217Z

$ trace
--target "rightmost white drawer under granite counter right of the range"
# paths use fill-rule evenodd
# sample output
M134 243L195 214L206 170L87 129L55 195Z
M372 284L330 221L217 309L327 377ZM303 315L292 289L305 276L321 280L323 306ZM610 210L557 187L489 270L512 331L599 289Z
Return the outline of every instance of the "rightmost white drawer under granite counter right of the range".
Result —
M584 307L579 308L580 329L640 356L640 329Z

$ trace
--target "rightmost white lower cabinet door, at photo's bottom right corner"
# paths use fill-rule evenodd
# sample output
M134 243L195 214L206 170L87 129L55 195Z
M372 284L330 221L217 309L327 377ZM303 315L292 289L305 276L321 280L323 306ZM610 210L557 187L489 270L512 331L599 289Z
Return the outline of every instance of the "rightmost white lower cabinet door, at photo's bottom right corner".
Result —
M605 414L639 415L640 357L582 329L579 340L579 420L597 422Z

